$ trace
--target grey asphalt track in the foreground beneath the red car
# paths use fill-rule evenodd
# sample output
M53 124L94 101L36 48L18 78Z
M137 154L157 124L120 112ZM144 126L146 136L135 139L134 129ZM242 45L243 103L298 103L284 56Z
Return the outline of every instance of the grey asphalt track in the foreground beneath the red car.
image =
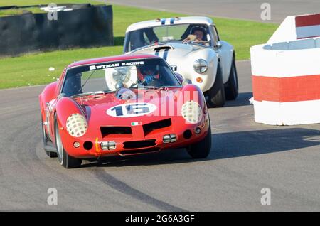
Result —
M210 109L212 150L201 161L178 149L67 170L43 151L43 86L0 90L0 210L319 211L320 124L255 123L250 61L237 64L240 96ZM262 188L271 205L261 205Z

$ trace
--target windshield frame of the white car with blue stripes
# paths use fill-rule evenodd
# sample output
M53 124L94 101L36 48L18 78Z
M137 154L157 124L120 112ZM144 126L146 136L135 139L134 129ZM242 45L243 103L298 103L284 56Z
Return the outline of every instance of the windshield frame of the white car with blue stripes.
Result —
M123 53L131 53L131 52L134 52L136 50L142 50L143 48L149 48L153 45L155 45L155 43L150 43L149 45L144 45L142 47L139 47L139 48L135 48L134 50L128 50L129 48L129 41L128 41L128 38L129 36L131 36L132 32L134 31L139 31L139 30L143 30L143 29L146 29L146 28L159 28L159 27L169 27L169 26L183 26L183 25L192 25L192 24L199 24L199 25L202 25L202 26L206 26L207 27L207 31L208 31L208 34L210 35L210 46L206 46L206 45L201 45L201 44L197 44L197 43L194 43L194 42L191 42L191 43L186 43L186 44L191 44L191 45L200 45L201 47L206 47L206 48L213 48L213 45L214 45L214 35L210 29L210 26L211 25L208 25L207 23L176 23L176 24L166 24L166 25L159 25L159 26L146 26L146 27L143 27L143 28L139 28L139 29L136 29L136 30L132 30L132 31L128 31L126 34L125 34L125 37L124 37L124 48L123 48ZM159 37L157 37L159 38ZM178 40L171 40L172 42L177 42ZM159 41L159 43L171 43L171 41Z

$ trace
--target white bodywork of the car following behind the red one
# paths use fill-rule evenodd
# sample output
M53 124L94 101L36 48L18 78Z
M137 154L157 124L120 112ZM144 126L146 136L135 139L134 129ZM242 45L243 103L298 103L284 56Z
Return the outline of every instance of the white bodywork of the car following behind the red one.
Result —
M165 23L163 22L165 20ZM127 28L127 33L142 28L152 28L156 26L174 26L176 24L203 24L208 26L210 35L210 46L194 44L194 43L177 43L168 41L159 45L147 45L144 48L132 50L127 53L149 53L159 55L169 63L171 68L181 74L184 78L190 79L193 84L198 85L203 92L213 87L215 75L217 72L218 61L223 75L223 83L227 82L230 75L230 68L233 61L233 46L225 41L220 41L215 24L210 18L191 16L182 18L166 18L155 21L144 21L134 23ZM125 50L124 50L125 51ZM208 63L208 70L203 74L199 74L193 69L193 63L203 59ZM197 78L201 77L202 82L197 82Z

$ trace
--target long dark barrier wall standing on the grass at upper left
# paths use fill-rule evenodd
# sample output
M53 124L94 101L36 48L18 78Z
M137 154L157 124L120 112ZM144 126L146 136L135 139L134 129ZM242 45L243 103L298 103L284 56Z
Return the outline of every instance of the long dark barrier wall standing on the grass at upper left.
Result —
M46 13L1 17L0 56L114 44L112 6L72 7L56 21Z

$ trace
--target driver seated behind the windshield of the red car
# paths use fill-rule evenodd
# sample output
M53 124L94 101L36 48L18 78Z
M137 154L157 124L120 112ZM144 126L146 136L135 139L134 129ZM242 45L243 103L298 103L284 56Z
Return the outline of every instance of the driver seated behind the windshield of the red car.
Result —
M142 85L159 85L159 65L139 66L138 78Z

